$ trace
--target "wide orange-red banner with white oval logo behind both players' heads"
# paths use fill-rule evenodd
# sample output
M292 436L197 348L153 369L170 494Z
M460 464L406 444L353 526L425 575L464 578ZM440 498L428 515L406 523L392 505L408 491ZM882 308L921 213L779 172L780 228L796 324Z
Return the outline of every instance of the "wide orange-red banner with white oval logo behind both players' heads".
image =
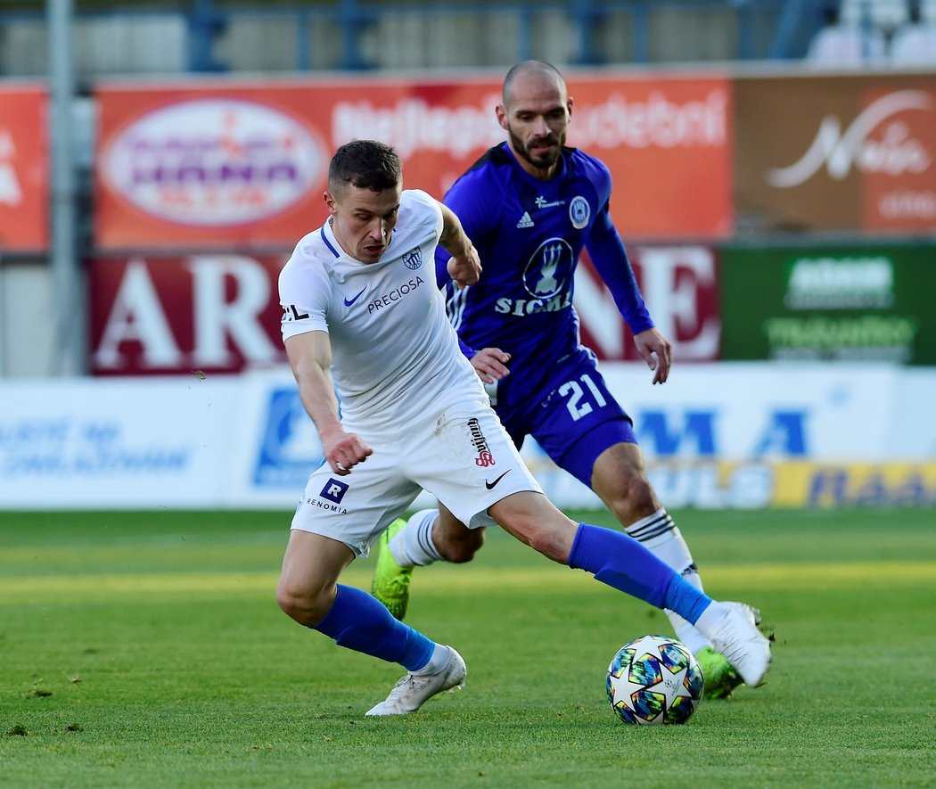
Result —
M731 89L722 76L570 74L570 145L604 159L625 238L732 231ZM500 80L105 83L95 176L101 250L288 248L324 221L333 150L380 139L404 185L441 198L505 139Z

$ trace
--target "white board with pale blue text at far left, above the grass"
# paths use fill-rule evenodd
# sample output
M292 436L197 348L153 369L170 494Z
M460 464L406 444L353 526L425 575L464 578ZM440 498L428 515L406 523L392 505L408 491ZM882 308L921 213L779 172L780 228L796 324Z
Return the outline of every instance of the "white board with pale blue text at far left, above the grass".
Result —
M0 507L213 508L241 419L233 377L0 385Z

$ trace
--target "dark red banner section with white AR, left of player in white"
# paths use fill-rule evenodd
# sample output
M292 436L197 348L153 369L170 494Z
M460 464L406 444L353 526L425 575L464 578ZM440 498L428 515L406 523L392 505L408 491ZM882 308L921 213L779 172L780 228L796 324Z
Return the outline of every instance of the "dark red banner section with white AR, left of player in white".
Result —
M284 256L88 261L95 375L238 373L285 364Z

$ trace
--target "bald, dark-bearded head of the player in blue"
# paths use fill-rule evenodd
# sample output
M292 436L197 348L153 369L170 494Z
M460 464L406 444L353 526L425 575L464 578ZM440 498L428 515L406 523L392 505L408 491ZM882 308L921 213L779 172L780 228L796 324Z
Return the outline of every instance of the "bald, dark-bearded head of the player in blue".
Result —
M520 166L544 181L556 174L571 116L572 99L564 86L538 72L518 77L507 103L497 108Z

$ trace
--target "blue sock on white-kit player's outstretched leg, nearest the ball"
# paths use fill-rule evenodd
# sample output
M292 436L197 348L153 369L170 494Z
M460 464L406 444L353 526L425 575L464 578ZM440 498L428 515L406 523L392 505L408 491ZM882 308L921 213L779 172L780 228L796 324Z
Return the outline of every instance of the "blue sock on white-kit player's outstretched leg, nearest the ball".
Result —
M578 524L569 566L695 624L711 598L680 577L631 536L589 523Z

